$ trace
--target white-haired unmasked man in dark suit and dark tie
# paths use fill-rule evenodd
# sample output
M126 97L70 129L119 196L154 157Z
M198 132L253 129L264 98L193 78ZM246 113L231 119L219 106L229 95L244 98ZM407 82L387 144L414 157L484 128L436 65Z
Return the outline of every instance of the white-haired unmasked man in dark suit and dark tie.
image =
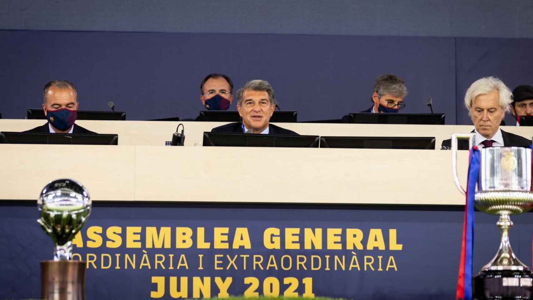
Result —
M476 80L466 91L465 107L474 123L474 145L483 147L528 147L531 141L520 135L499 128L505 112L511 104L511 90L495 77ZM442 141L443 147L450 147L451 140ZM468 150L468 142L461 140L457 149Z

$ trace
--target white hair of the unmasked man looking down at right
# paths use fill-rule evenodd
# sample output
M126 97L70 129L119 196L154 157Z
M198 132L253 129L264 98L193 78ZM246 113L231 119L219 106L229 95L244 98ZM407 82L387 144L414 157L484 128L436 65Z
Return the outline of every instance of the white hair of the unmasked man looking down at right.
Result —
M513 102L513 93L496 77L483 77L475 80L475 82L468 88L465 94L465 107L468 110L469 116L472 115L472 103L479 95L488 94L492 91L498 91L500 107L505 112L509 112L509 104Z

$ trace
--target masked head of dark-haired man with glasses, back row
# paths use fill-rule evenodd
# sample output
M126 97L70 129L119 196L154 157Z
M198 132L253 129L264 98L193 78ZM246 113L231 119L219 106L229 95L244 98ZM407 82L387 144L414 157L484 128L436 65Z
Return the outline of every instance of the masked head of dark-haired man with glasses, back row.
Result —
M207 110L228 110L233 100L233 82L224 74L209 74L200 84L200 100Z

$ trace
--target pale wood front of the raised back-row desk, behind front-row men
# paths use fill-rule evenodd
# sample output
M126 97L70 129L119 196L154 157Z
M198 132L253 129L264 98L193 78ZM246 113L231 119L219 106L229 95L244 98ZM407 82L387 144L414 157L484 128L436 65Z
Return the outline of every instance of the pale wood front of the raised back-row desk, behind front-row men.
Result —
M25 131L45 120L0 119L0 131ZM178 124L185 127L185 146L203 142L203 133L225 122L174 122L174 121L95 121L77 120L76 124L98 133L118 134L119 145L163 146L172 140ZM302 135L320 136L418 136L435 137L435 145L440 148L442 140L449 139L452 133L467 133L474 128L470 125L390 125L390 124L319 124L319 123L277 123ZM533 127L503 126L507 132L527 139L533 135Z

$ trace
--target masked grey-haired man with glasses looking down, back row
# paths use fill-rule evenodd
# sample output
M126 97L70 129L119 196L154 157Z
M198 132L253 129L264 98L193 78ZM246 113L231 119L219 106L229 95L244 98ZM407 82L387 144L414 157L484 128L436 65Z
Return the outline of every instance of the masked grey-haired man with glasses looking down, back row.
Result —
M372 88L372 103L369 109L361 112L398 112L405 107L403 98L407 96L407 87L403 80L392 74L384 74L377 77ZM343 123L348 123L348 115L342 117Z

